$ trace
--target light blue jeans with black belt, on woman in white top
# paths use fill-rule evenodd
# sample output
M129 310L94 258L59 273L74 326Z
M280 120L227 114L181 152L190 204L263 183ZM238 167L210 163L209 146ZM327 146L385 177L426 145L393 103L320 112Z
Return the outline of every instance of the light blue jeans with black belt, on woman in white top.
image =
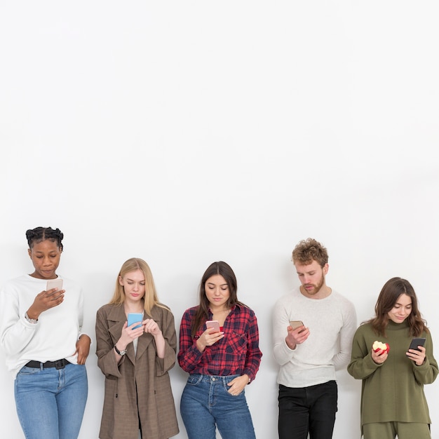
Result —
M85 365L22 367L15 405L26 439L77 439L88 393Z

